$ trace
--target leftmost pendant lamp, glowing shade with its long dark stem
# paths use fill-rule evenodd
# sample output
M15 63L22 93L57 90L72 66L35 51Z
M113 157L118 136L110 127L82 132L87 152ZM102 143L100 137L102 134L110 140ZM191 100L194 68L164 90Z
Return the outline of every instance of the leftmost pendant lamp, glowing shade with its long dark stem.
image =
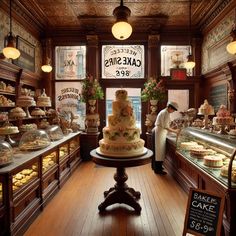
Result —
M20 51L15 48L14 43L15 43L15 37L12 34L12 1L9 1L9 11L10 11L10 32L8 33L6 37L6 42L7 46L3 48L2 52L3 55L8 58L8 59L17 59L20 56Z

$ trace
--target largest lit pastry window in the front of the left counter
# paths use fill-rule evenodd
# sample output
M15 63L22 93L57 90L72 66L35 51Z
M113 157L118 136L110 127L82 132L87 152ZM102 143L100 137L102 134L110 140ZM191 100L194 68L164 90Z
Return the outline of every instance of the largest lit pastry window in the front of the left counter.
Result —
M13 193L36 178L38 178L37 162L29 166L29 168L25 168L12 176Z

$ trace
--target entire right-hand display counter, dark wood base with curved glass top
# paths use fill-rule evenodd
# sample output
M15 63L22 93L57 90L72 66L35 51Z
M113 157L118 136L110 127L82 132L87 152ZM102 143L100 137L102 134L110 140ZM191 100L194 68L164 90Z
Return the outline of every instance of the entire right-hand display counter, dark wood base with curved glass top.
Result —
M236 140L230 135L187 127L181 130L177 139L168 135L166 145L164 165L168 173L186 192L189 192L190 188L197 188L223 196L224 235L236 235L236 185L233 178ZM208 153L199 157L198 150L207 150ZM206 156L210 157L204 161ZM220 156L222 160L216 158L213 163L212 156ZM229 174L229 169L232 169L232 175Z

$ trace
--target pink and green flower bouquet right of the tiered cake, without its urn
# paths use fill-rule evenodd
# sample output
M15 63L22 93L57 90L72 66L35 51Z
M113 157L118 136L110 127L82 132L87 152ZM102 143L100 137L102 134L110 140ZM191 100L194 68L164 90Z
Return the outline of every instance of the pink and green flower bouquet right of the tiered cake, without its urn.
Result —
M141 100L146 102L148 100L163 101L166 98L166 89L163 80L150 78L144 83L144 89L141 92Z

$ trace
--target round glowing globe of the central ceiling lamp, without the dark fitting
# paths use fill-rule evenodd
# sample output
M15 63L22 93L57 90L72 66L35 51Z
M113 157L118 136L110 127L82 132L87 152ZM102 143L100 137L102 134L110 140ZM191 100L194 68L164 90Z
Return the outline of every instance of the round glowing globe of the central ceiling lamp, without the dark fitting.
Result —
M125 21L118 21L112 26L112 34L118 40L125 40L132 34L132 26Z

